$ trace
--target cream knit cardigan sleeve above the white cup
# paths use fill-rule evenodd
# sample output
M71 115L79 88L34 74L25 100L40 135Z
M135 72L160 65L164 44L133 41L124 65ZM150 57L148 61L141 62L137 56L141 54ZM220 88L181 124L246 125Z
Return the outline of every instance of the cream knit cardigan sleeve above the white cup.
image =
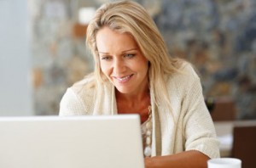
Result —
M218 139L198 76L194 76L189 84L183 103L186 108L183 120L185 150L198 150L210 158L219 157Z

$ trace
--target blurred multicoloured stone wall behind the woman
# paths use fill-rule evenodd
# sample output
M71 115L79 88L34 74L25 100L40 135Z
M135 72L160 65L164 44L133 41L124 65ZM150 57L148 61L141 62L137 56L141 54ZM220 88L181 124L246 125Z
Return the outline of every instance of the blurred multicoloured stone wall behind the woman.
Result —
M30 1L37 115L57 115L67 87L93 70L74 27L79 8L103 2ZM195 64L206 98L230 98L237 119L256 118L256 0L137 2L154 18L170 53Z

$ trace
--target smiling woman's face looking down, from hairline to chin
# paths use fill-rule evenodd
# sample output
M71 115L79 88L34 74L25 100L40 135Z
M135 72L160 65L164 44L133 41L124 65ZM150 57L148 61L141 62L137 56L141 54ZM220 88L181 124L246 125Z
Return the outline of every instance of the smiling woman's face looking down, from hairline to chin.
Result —
M96 34L101 70L119 92L137 94L148 90L148 60L127 33L103 27Z

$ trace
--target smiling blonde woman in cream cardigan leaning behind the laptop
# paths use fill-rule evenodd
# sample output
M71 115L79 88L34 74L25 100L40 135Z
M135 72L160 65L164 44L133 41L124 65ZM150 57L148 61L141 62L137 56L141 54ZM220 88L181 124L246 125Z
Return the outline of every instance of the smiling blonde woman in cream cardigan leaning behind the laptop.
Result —
M192 66L169 56L145 9L131 1L96 11L86 42L95 72L67 89L60 115L141 116L146 167L207 167L218 140Z

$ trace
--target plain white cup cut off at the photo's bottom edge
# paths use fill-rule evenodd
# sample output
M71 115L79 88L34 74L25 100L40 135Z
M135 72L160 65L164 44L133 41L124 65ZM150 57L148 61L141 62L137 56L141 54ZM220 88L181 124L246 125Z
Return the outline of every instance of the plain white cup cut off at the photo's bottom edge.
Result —
M241 168L241 160L236 158L216 158L207 161L208 168Z

